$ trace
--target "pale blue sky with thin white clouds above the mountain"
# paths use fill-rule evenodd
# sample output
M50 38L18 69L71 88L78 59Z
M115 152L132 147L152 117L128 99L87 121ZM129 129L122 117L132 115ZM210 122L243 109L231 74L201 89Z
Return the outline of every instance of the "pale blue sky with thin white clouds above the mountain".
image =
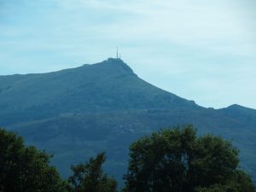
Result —
M255 0L0 0L0 75L115 57L207 108L256 109Z

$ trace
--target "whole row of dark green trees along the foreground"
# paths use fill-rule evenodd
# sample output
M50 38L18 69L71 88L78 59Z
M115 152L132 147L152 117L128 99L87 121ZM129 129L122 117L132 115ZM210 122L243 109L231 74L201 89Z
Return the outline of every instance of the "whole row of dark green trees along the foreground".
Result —
M192 125L155 131L131 144L122 192L255 192L239 168L239 151L222 137L196 136ZM22 137L0 129L0 192L117 192L102 171L104 153L71 166L62 179L51 155L26 147Z

